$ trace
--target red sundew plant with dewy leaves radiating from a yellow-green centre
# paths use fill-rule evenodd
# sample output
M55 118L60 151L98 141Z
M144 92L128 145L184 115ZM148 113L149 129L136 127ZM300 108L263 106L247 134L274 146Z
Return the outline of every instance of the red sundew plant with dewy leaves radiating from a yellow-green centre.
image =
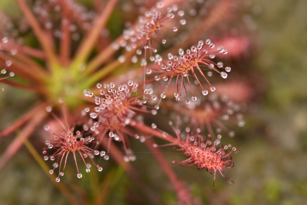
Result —
M122 175L136 190L120 204L168 204L154 191L165 188L203 204L188 175L208 189L240 180L227 172L252 98L242 2L15 2L18 15L0 12L0 96L32 93L6 107L32 105L1 126L0 171L25 147L73 204L119 203ZM167 182L158 188L141 177L155 175L150 161Z

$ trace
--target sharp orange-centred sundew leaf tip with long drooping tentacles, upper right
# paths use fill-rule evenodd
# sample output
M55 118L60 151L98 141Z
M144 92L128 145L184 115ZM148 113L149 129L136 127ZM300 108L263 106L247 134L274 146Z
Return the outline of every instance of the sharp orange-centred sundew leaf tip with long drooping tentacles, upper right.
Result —
M209 39L207 39L205 42L199 41L196 46L193 45L190 49L187 49L186 52L183 49L179 49L179 56L169 53L167 62L155 61L156 64L159 65L162 70L162 74L155 76L155 80L163 79L164 81L171 81L173 78L176 78L176 91L174 93L174 96L176 100L179 101L182 97L182 89L184 88L185 93L187 95L186 103L189 104L190 101L188 100L188 93L184 84L184 78L188 81L188 85L192 91L192 101L195 101L197 98L193 93L192 84L190 83L189 76L193 76L195 78L196 83L199 84L202 88L203 95L208 94L208 90L204 89L202 83L196 76L196 70L198 70L200 75L209 84L210 91L214 92L216 88L212 86L208 81L207 77L202 71L202 66L206 66L210 70L219 73L222 78L227 78L226 72L230 72L231 70L231 68L228 66L224 68L222 62L215 63L210 60L215 58L217 54L227 54L227 50L224 49L222 46L218 47L217 51L212 51L214 47L215 45ZM222 68L226 72L220 72L218 68ZM157 72L159 71L157 70ZM208 72L208 76L212 76L211 71ZM179 77L181 77L181 79ZM162 93L163 96L165 91Z

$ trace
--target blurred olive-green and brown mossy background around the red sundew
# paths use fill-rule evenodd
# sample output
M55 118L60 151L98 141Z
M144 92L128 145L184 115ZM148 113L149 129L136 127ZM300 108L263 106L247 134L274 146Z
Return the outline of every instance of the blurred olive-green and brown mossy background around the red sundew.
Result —
M213 176L207 171L172 167L203 204L306 204L307 1L246 0L243 4L250 12L243 18L250 19L255 27L252 43L256 46L247 57L248 63L242 61L241 66L246 70L245 78L256 82L261 91L248 105L245 126L236 128L236 136L231 139L233 145L242 148L233 156L235 167L225 170L235 183L228 184L217 175L214 190ZM0 10L15 17L20 14L11 0L1 0ZM0 93L1 129L35 101L31 93L2 87L11 94ZM20 106L9 106L16 101ZM1 152L10 141L9 137L0 141ZM31 142L41 153L39 136ZM142 181L163 203L175 204L176 193L153 156L139 142L132 144L132 149L137 157L133 165ZM177 160L177 152L169 147L161 150L167 160ZM0 204L70 204L25 147L0 171L0 181ZM135 181L112 160L103 161L102 173L92 171L78 180L75 174L65 175L63 183L87 198L88 204L95 203L96 194L106 204L150 203Z

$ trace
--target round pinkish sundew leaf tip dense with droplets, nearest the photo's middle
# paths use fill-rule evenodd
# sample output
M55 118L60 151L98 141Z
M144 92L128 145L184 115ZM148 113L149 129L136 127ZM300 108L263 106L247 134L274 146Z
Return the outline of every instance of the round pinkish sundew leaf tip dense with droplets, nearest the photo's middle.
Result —
M91 126L91 131L95 135L101 136L99 140L102 140L105 136L109 139L116 141L122 141L124 149L129 159L134 159L133 155L128 155L127 141L128 137L135 136L127 125L134 124L134 116L138 113L151 113L156 114L159 107L150 107L146 105L147 101L154 101L157 99L153 95L152 89L145 89L144 93L138 94L138 83L129 80L127 84L119 85L115 88L115 83L104 83L103 85L98 83L99 93L101 97L94 96L90 91L84 91L85 96L94 97L96 106L93 112L90 112L89 108L85 108L85 112L90 112L89 115L94 121ZM150 95L147 99L140 99L143 94ZM150 108L151 110L149 110ZM107 152L109 149L107 150ZM127 158L125 158L127 160ZM130 159L130 160L131 160Z

